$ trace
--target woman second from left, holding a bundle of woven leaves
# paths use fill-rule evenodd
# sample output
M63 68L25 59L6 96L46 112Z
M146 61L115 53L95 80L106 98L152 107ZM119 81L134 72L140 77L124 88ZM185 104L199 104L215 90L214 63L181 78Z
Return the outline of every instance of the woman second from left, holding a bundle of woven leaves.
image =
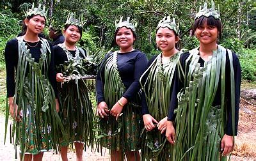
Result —
M77 160L83 160L84 142L92 145L93 142L93 109L89 98L86 81L82 79L84 71L76 68L83 66L86 54L83 49L76 46L82 36L82 20L77 20L73 13L68 15L64 27L65 41L53 47L55 53L55 65L57 66L56 81L60 82L60 116L66 129L65 135L61 137L61 158L67 158L68 144L75 144ZM75 64L77 64L75 66ZM60 67L62 66L62 67ZM67 66L73 66L72 70ZM66 70L64 70L66 68ZM83 66L86 68L86 66ZM70 70L70 72L68 72ZM72 71L71 71L72 70ZM68 77L74 76L65 82ZM88 139L90 139L88 141ZM93 146L93 145L92 145Z

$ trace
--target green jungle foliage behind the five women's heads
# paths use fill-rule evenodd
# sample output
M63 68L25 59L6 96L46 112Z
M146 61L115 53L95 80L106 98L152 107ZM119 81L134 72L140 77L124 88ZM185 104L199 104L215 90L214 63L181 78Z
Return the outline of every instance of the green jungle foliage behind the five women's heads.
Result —
M4 61L3 50L7 40L20 32L22 10L32 2L44 3L53 16L61 23L67 19L70 11L83 15L86 19L81 47L90 50L109 50L114 47L113 34L115 20L121 16L136 19L138 36L135 47L145 52L150 58L159 53L155 42L156 26L165 15L175 17L180 26L179 49L193 49L198 45L191 37L191 25L196 11L204 1L2 1L0 4L0 61ZM211 1L208 1L211 6ZM215 8L220 8L223 33L220 44L234 50L241 60L243 79L255 81L256 66L246 62L256 49L256 3L254 1L215 1ZM47 24L51 22L48 19ZM47 31L47 29L45 30ZM45 32L47 35L47 32ZM245 51L245 52L244 52ZM246 55L246 56L245 56ZM255 54L254 54L255 55ZM255 58L253 57L255 60ZM252 59L252 60L253 60ZM244 63L243 63L244 62ZM248 77L248 75L252 75Z

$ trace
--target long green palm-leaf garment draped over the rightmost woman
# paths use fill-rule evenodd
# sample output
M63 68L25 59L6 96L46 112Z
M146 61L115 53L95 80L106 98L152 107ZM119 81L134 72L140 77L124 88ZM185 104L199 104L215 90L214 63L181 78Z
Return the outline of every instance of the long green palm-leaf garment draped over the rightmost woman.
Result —
M226 51L230 61L230 82L225 84ZM172 160L227 160L220 154L220 141L224 135L226 107L225 86L231 87L232 127L234 134L235 89L232 52L221 45L204 67L198 63L198 49L190 50L185 69L185 86L178 95L179 105L175 119L176 138ZM221 78L220 78L221 76ZM221 105L212 107L219 80Z

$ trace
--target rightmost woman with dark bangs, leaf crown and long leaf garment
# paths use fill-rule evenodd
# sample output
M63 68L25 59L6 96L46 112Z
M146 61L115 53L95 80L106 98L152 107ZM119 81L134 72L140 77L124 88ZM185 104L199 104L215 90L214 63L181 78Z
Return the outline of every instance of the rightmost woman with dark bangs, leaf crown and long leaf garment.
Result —
M218 45L221 31L214 4L205 4L193 26L200 46L180 56L184 77L175 76L166 130L175 160L216 160L234 148L241 67L234 52Z

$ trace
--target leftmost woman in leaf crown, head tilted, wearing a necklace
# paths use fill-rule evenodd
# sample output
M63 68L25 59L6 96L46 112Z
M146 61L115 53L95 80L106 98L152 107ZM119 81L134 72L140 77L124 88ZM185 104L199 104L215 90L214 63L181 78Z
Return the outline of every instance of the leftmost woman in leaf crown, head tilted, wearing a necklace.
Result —
M33 4L24 19L26 33L7 42L4 52L8 103L15 119L13 144L20 145L20 160L42 160L44 151L56 149L61 126L52 45L38 36L45 23L45 8Z

